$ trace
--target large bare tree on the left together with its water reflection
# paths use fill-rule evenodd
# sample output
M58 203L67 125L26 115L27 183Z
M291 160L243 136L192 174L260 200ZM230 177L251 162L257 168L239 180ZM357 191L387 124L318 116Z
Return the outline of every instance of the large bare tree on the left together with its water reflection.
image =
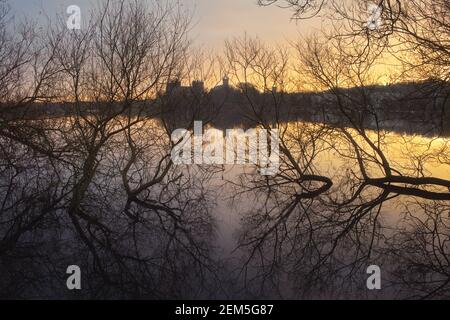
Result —
M2 292L66 296L65 268L77 264L86 297L209 296L208 173L173 165L171 131L158 119L159 92L186 57L189 18L169 2L105 1L86 29L62 22L40 39L46 60L26 60L48 61L58 82L38 88L55 96L11 99L31 107L3 127L0 254L11 281ZM50 79L43 70L17 72Z

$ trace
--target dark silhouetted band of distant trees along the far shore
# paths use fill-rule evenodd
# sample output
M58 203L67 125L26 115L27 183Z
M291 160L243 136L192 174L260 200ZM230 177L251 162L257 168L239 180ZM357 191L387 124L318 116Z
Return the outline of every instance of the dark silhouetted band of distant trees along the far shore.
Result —
M437 87L438 86L438 87ZM438 88L438 90L437 90ZM251 127L255 114L265 121L307 121L332 126L362 126L421 135L450 136L450 85L435 81L335 89L324 92L259 92L251 85L212 90L182 90L131 102L127 113L164 118L175 127L204 120L217 128ZM129 103L129 102L128 102ZM120 114L122 103L34 103L0 105L9 120L31 120L80 113ZM257 108L254 112L254 108Z

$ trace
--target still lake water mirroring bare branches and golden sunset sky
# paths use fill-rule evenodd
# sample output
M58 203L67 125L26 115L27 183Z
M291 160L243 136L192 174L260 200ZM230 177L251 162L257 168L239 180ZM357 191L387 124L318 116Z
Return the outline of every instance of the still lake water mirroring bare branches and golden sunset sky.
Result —
M448 297L449 201L409 193L448 195L446 138L281 124L281 171L267 177L174 166L160 120L131 122L110 121L103 143L86 119L36 121L49 134L30 142L54 157L3 138L3 297L79 297L71 264L84 298ZM367 183L386 176L419 180Z

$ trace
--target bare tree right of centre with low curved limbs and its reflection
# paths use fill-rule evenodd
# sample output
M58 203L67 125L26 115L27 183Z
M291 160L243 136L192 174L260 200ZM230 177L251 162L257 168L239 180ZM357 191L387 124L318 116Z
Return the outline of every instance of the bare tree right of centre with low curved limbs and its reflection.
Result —
M226 45L226 68L245 84L240 85L243 115L256 126L280 130L280 173L245 174L238 185L238 196L259 204L243 217L240 247L248 255L242 275L249 288L269 296L352 294L365 266L386 261L383 243L390 226L383 221L389 203L400 196L441 205L449 199L448 180L424 170L430 163L443 164L440 157L447 149L430 144L419 151L408 137L389 137L374 91L376 51L367 54L358 43L349 47L340 38L324 43L310 38L295 50L299 59L292 67L257 39L243 37ZM310 108L329 119L304 123L286 102L288 94L267 93L274 83L289 85L293 69L322 91ZM276 82L267 76L272 74L280 75ZM393 146L409 149L410 164L391 159ZM326 169L323 159L330 153L343 162L336 171Z

